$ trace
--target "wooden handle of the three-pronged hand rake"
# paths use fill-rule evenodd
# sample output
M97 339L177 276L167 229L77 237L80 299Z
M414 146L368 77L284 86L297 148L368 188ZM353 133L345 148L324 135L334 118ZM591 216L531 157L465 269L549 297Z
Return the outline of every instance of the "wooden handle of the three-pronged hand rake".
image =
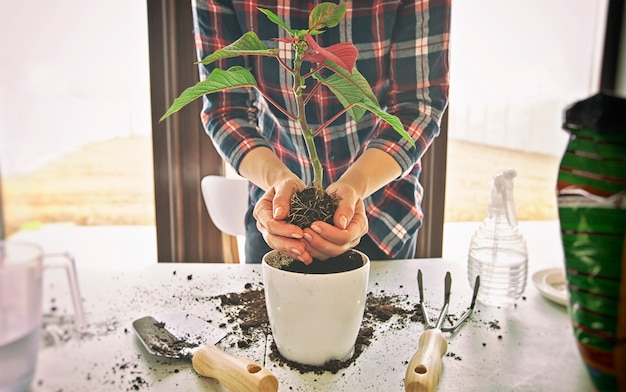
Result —
M448 341L439 328L428 329L419 340L419 348L406 369L406 392L432 392L437 389Z

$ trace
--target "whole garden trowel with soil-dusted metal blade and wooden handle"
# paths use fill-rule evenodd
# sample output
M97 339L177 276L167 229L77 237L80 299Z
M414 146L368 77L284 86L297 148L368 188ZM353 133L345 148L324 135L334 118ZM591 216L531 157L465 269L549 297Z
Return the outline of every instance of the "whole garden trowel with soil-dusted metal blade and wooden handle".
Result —
M191 359L201 376L217 379L231 391L276 392L278 380L265 367L216 346L227 332L199 317L171 313L135 320L133 328L152 355Z

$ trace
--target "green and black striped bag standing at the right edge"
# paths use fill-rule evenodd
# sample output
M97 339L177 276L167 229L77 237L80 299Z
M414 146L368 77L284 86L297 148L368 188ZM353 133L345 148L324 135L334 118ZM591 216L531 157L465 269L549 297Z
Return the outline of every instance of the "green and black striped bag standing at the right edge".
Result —
M626 100L567 109L557 200L579 352L599 391L626 390Z

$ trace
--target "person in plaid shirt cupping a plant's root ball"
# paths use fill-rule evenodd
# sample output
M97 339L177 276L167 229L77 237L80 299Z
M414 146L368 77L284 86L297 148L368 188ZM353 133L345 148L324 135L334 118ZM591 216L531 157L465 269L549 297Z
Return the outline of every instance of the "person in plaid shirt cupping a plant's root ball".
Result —
M448 105L448 45L451 0L353 0L338 26L315 36L327 47L352 42L356 67L372 86L382 108L400 118L412 145L371 113L358 123L347 114L335 120L316 146L324 187L339 205L334 225L315 222L301 229L285 221L289 200L312 181L298 125L254 89L203 97L202 123L218 152L250 185L246 214L246 262L259 263L277 249L305 263L325 260L350 248L371 260L406 259L415 253L423 212L420 158L440 131ZM291 29L306 29L318 1L193 0L198 60L254 31L268 47L285 32L258 8L282 18ZM287 61L288 62L288 61ZM259 89L293 109L291 75L273 57L221 60L220 68L249 69ZM201 78L215 64L200 65ZM290 101L291 100L291 101ZM343 109L325 88L307 104L311 128Z

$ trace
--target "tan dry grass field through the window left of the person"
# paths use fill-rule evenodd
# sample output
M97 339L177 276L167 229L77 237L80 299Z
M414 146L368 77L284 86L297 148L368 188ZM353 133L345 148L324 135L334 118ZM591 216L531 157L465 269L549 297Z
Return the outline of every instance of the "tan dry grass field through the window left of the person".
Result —
M91 143L19 177L3 178L5 233L22 225L154 225L149 137Z

